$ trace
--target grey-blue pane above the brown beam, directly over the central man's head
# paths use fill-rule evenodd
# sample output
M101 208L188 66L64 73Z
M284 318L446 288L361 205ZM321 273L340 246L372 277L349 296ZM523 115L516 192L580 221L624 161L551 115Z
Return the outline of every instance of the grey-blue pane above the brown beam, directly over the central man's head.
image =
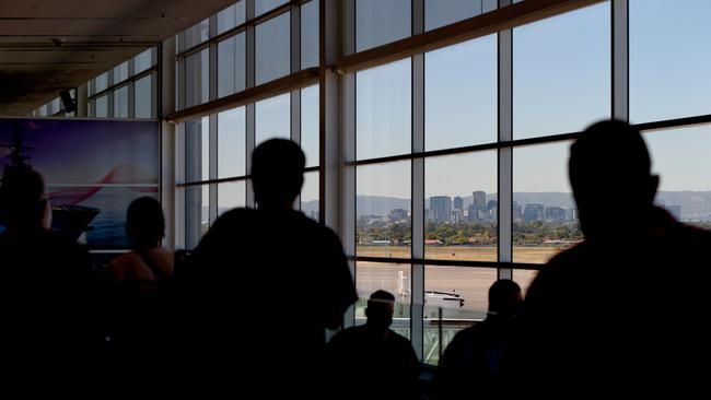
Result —
M285 12L257 25L256 84L259 85L291 71L291 13Z

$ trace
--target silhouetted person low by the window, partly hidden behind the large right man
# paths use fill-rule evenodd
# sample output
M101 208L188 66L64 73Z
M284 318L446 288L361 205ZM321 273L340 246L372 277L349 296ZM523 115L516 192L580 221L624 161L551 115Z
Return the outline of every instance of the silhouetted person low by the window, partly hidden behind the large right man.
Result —
M521 287L511 280L499 280L489 287L487 318L454 337L434 375L438 399L496 397L499 365L508 351L523 308Z

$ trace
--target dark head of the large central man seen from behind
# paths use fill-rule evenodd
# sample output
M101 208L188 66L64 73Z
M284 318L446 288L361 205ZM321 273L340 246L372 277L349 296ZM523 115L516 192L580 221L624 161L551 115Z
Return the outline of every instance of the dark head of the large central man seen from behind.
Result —
M260 208L291 208L304 183L306 157L291 140L271 139L252 154L252 181Z

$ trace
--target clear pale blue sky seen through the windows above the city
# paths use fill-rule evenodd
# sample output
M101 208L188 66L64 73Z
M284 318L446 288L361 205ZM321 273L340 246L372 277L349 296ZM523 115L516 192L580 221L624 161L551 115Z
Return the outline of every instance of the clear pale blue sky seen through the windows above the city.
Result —
M578 131L610 116L609 8L604 2L514 30L515 139ZM632 122L711 114L709 15L708 0L630 0ZM400 28L393 23L383 32L364 33L363 40L396 37ZM496 35L426 55L427 150L496 140ZM317 95L315 86L302 95L302 141L310 165L318 149ZM288 132L289 104L288 95L257 104L257 141ZM356 106L359 158L408 153L410 60L360 71ZM662 190L711 190L710 127L645 138ZM569 191L567 158L568 143L514 150L514 191ZM491 151L431 158L426 163L426 196L496 192L496 174ZM408 162L361 167L357 181L359 195L410 197ZM307 187L304 198L315 199L315 185Z

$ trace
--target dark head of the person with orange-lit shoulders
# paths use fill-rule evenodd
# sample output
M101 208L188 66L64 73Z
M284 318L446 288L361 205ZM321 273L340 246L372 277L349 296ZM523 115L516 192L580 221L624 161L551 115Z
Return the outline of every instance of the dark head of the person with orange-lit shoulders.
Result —
M137 248L154 248L165 236L163 208L151 197L141 197L128 207L126 234Z

